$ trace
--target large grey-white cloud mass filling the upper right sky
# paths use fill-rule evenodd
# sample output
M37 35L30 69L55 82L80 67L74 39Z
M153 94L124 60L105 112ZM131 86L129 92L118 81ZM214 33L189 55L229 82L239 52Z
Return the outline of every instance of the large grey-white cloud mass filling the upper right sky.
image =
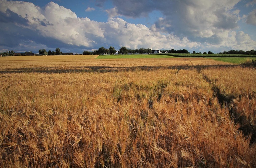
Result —
M155 21L150 30L175 34L175 37L180 39L185 37L189 41L196 42L195 46L200 44L205 47L225 45L230 48L237 47L236 49L255 48L255 41L245 36L243 36L244 41L241 41L234 35L236 33L234 30L238 28L237 23L241 19L240 11L235 7L239 0L203 1L203 3L201 0L112 1L115 4L115 15L136 18L147 16L154 10L161 11L163 17ZM250 5L253 3L254 1ZM249 14L247 23L255 24L255 20L255 11L253 11Z

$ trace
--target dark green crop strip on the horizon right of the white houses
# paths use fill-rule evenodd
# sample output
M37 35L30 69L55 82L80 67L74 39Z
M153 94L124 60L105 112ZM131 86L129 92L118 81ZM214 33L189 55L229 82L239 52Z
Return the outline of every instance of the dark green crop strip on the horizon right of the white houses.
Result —
M171 55L174 57L256 57L256 55L244 55L244 54L161 54Z

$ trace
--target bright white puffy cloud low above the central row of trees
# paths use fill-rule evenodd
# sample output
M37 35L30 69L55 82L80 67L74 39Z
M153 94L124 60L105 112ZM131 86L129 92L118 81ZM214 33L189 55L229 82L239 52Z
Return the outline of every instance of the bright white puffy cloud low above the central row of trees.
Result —
M162 35L154 32L142 24L130 24L120 18L110 18L103 25L105 28L106 43L126 46L128 48L169 49L179 47L197 47L200 44L190 42L188 39L180 39L173 34Z

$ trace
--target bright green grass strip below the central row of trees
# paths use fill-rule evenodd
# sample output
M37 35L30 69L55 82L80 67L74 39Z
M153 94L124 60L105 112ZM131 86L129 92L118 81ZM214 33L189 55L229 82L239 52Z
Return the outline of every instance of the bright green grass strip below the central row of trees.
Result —
M118 59L118 58L174 58L170 55L157 54L133 54L133 55L99 55L96 59Z

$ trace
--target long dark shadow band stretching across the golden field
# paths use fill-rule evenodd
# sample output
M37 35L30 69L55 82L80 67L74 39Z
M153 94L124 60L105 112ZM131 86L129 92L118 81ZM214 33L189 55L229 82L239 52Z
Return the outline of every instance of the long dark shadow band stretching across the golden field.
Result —
M5 73L106 73L106 72L129 72L129 71L152 71L157 69L197 69L219 68L219 67L236 67L239 65L180 65L180 66L136 66L136 67L110 67L110 66L79 66L72 68L58 67L35 67L35 68L7 68L0 70L1 74Z

